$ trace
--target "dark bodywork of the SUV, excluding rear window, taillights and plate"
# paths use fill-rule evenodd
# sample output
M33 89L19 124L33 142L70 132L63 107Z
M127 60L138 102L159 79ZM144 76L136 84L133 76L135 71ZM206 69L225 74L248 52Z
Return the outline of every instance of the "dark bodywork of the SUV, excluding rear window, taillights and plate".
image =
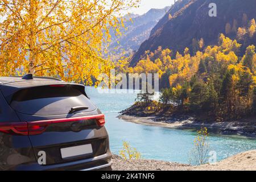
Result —
M19 90L48 85L74 86L86 96L83 85L70 84L57 78L35 77L33 80L22 80L21 77L0 77L0 128L4 122L32 123L101 114L96 106L90 104L88 111L56 115L20 113L11 107L11 98ZM92 144L92 154L62 158L61 148L84 144ZM46 152L46 164L38 163L40 151ZM2 170L110 169L111 158L108 133L104 126L98 126L93 119L51 123L43 133L35 135L21 136L0 132Z

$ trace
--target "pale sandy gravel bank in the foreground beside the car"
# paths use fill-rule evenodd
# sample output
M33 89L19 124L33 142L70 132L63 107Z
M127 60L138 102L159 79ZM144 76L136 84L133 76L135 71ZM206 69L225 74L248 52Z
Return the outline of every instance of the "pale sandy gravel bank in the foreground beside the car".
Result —
M216 164L190 166L160 160L123 160L113 155L114 171L256 171L256 150L242 152Z

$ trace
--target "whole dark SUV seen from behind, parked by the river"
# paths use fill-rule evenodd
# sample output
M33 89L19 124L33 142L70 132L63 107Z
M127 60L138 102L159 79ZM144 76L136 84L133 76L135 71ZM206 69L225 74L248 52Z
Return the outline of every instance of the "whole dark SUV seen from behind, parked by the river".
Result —
M0 170L109 170L104 124L83 85L0 77Z

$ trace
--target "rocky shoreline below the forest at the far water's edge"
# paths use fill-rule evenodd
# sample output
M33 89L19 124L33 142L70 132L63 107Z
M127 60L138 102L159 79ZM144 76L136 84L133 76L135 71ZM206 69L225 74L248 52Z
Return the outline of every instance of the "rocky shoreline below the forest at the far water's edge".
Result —
M141 125L161 126L173 129L197 130L200 129L201 126L204 126L207 127L211 133L256 138L256 119L243 119L229 122L199 122L189 116L183 118L167 118L159 116L137 117L134 115L119 115L118 118Z

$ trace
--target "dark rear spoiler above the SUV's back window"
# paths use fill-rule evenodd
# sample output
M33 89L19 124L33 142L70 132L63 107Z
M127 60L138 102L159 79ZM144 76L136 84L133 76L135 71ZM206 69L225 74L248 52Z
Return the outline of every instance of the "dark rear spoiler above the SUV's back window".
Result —
M24 86L24 87L16 87L13 85L0 85L1 92L3 93L3 96L5 96L6 101L10 104L12 101L12 98L16 92L19 90L23 89L28 89L28 88L40 88L40 87L45 87L45 86L72 86L73 88L79 90L82 94L85 95L85 97L89 98L87 94L85 93L85 86L81 84L71 84L67 82L56 82L54 84L46 84L46 85L37 85L37 86Z

